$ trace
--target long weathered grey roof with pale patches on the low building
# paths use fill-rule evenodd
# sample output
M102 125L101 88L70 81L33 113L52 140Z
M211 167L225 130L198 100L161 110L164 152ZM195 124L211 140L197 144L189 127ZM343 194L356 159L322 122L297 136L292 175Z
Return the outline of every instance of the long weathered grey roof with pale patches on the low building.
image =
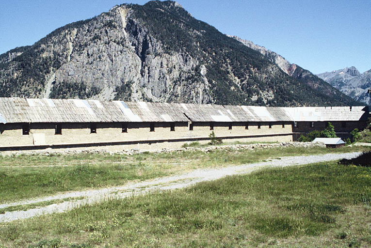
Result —
M189 119L188 119L188 118ZM222 106L80 99L0 98L0 123L358 121L367 107Z

